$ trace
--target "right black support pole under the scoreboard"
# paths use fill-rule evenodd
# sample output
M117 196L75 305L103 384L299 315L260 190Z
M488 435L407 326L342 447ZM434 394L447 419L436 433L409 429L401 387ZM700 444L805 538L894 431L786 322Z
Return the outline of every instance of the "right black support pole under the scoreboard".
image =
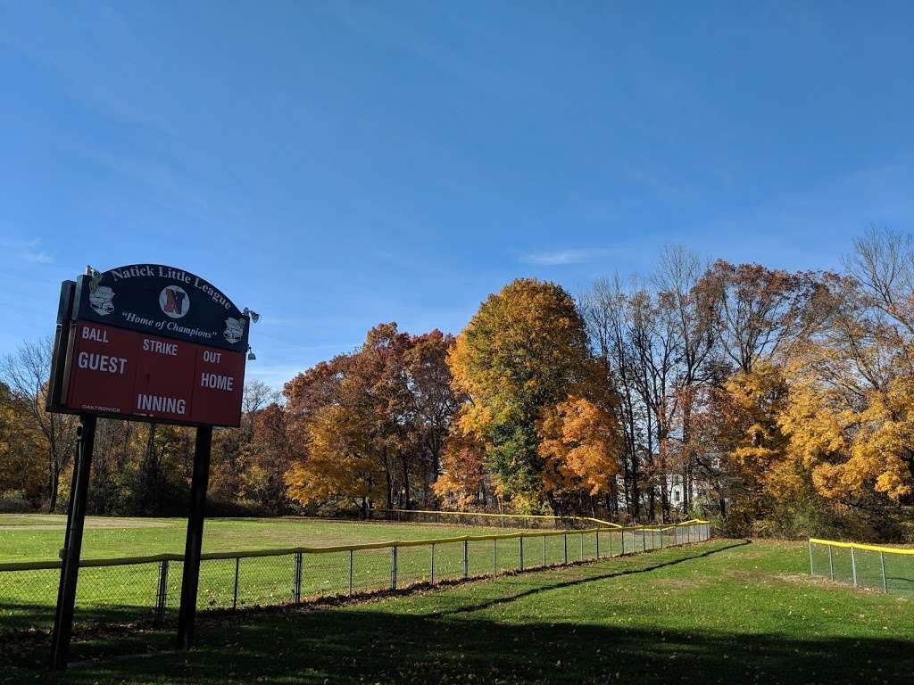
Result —
M177 618L178 647L189 649L194 641L197 620L197 584L200 579L200 547L203 544L203 517L209 485L209 448L213 428L197 428L194 446L194 478L190 484L190 517L187 519L187 541L184 547L184 577L181 581L181 608Z

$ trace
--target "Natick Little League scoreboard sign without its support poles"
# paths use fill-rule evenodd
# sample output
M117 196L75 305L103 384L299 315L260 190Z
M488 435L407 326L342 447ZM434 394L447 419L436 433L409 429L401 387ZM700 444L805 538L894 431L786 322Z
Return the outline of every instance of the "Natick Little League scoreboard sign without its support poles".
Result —
M67 281L48 408L238 427L249 325L182 269L134 264Z

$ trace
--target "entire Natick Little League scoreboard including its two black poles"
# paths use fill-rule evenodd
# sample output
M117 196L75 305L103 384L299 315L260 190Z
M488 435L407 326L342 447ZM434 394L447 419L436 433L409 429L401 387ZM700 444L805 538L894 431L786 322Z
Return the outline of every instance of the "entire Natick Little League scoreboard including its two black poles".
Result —
M178 611L178 638L190 648L213 427L241 425L248 328L258 319L183 269L87 270L60 287L46 406L80 415L51 636L55 669L67 667L98 416L197 427Z

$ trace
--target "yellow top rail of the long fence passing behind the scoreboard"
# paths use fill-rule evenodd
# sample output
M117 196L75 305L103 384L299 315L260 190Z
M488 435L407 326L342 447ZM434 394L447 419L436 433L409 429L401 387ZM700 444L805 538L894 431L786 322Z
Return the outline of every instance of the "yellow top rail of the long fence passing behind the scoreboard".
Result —
M391 547L421 547L424 545L430 544L447 544L447 543L473 543L486 540L516 540L518 538L531 538L531 537L555 537L558 535L584 535L590 533L600 533L600 532L622 532L622 531L641 531L641 530L658 530L658 531L669 531L675 528L681 528L685 526L695 526L707 523L707 521L701 521L699 519L693 519L692 521L675 523L667 526L666 528L659 528L657 526L630 526L623 528L619 526L617 528L586 528L586 529L570 529L570 530L560 530L560 531L519 531L519 532L502 532L502 533L489 533L486 535L458 535L454 537L447 538L423 538L421 540L388 540L384 542L377 543L357 543L357 544L341 544L341 545L330 545L324 547L312 547L312 546L302 546L302 547L286 547L286 548L277 548L271 550L241 550L233 552L207 552L200 555L201 561L207 560L217 560L217 559L245 559L250 557L264 557L264 556L283 556L286 554L325 554L325 553L334 553L334 552L357 552L359 550L381 550L381 549L390 549ZM858 545L859 546L859 545ZM910 553L914 553L912 550ZM183 562L184 554L153 554L150 556L131 556L131 557L114 557L111 559L83 559L80 562L81 566L124 566L130 564L154 564L157 562ZM59 561L37 561L37 562L7 562L5 564L0 564L0 572L3 571L40 571L44 569L59 569Z

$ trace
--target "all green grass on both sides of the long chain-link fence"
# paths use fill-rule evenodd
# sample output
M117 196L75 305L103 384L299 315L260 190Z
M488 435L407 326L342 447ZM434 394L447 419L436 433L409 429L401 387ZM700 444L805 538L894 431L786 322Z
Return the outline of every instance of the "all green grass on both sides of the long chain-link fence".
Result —
M62 531L50 527L56 524L53 520L46 523L41 528L0 527L0 561L53 558ZM416 540L466 532L482 531L393 523L215 520L207 522L205 548ZM85 556L180 552L183 537L183 521L95 520L86 531ZM547 563L558 563L562 538L547 540ZM591 537L574 539L579 541L585 546L575 546L570 559L596 552ZM542 562L540 542L534 540L527 548L527 564ZM471 564L471 574L491 570L485 564L492 560L492 543L478 544L486 546L471 548L471 559L483 561ZM443 547L436 558L437 578L457 578L462 574L462 548L458 553L456 546ZM601 553L606 551L601 548ZM377 589L387 582L389 553L380 552L368 554L356 567L356 577L365 581L356 590ZM427 548L400 552L402 584L427 580ZM515 564L515 541L499 541L495 552L504 568ZM310 557L305 556L311 565L304 569L303 594L344 592L347 555ZM48 626L49 605L36 595L53 601L57 573L39 572L48 574L43 585L0 585L0 663L8 663L0 669L0 683L832 685L909 683L914 673L914 596L854 590L812 578L802 543L715 540L340 606L244 608L288 601L284 593L290 585L290 558L242 564L242 610L201 614L197 647L190 653L172 648L175 604L169 602L165 627L156 629L148 622L155 574L147 570L154 568L119 569L121 575L113 579L100 574L108 569L84 569L71 653L80 663L65 677L39 668L47 658L47 635L24 632ZM208 564L201 571L201 606L226 606L225 586L230 586L234 562ZM170 597L177 595L179 583L176 570L169 575ZM111 606L87 608L102 596L111 599L108 595L115 589ZM39 621L44 624L37 625ZM4 633L4 627L11 630Z

